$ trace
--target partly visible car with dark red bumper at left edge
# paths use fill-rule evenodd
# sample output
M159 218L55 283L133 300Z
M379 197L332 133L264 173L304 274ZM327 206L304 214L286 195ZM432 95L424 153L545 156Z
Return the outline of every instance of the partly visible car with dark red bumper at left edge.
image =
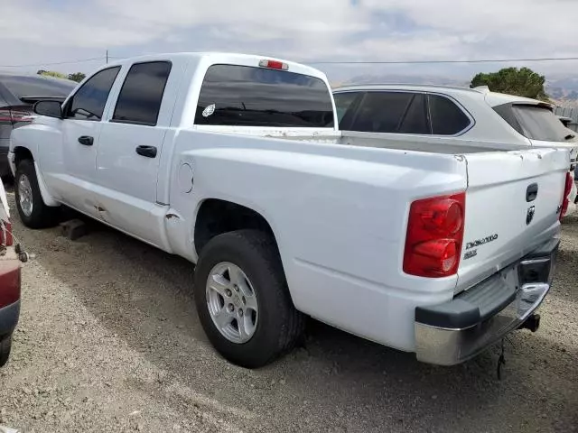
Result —
M19 315L20 261L14 247L8 201L0 181L0 367L8 362Z

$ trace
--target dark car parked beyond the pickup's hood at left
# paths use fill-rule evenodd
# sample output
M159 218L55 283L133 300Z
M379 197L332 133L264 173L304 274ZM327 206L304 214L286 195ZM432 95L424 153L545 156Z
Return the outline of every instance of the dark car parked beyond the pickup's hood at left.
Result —
M7 159L10 134L32 121L34 102L63 101L76 85L69 79L0 72L0 176L11 174Z

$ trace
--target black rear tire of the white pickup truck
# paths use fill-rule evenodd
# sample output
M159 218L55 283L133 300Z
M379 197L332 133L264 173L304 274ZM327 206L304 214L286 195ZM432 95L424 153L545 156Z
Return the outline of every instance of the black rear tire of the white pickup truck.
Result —
M225 266L232 263L244 272L247 287L252 288L256 297L258 313L245 309L246 317L251 314L252 319L256 320L248 341L231 341L221 333L211 315L208 281L210 277L213 281L211 272L215 272L223 263ZM232 281L230 276L229 280ZM225 295L218 297L225 300ZM292 350L303 334L304 316L294 308L275 240L259 230L238 230L210 240L202 249L195 270L194 299L200 324L210 343L220 355L242 367L258 368L273 362ZM245 297L242 299L244 303ZM239 305L240 310L243 304L239 301ZM249 319L249 323L252 323L252 319ZM230 328L233 331L235 320Z

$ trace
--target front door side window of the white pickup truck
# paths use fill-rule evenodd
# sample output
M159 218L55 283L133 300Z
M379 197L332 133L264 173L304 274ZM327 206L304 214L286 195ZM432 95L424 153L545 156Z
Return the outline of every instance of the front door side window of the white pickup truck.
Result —
M70 119L98 122L105 111L108 94L120 66L97 72L70 98L66 107L66 117Z

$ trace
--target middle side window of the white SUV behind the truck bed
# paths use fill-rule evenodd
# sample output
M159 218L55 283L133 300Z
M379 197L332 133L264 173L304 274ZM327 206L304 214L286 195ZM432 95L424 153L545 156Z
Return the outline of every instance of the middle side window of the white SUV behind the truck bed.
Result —
M369 92L361 101L352 130L396 133L414 97L404 92Z

